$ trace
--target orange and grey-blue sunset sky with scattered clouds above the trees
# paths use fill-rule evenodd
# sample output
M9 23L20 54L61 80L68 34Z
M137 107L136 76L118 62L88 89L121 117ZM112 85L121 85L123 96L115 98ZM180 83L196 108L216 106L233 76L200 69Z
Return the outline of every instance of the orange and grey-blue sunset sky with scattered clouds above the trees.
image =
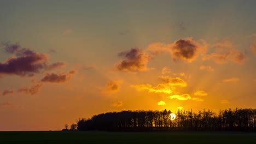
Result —
M0 131L252 108L256 1L0 1Z

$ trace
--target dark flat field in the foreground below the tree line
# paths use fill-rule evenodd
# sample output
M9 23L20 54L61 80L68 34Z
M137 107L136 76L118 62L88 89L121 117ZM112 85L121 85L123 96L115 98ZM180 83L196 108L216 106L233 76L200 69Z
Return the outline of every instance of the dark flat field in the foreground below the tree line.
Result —
M0 143L256 143L256 133L234 131L0 131Z

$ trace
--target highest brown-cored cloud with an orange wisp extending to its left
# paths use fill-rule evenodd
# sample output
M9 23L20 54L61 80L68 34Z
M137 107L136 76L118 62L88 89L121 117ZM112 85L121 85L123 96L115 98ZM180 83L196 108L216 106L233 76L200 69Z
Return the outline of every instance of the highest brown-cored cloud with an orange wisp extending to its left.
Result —
M192 37L179 39L172 44L153 43L149 44L147 51L152 55L161 55L169 52L173 61L192 62L200 54L207 50L208 44L204 40L194 41Z

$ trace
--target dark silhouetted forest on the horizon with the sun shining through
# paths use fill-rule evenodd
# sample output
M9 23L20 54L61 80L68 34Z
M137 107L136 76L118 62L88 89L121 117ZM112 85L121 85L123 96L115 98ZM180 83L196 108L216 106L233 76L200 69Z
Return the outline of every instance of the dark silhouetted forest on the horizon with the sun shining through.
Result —
M256 131L256 109L226 109L215 113L211 110L178 110L171 121L170 110L107 112L91 118L79 118L73 130L104 131ZM74 128L74 125L76 128Z

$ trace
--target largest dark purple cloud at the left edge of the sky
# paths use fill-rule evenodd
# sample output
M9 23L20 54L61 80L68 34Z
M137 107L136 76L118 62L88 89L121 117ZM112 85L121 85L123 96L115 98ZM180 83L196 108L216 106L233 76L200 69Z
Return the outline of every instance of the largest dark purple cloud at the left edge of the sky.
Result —
M63 65L63 63L48 64L49 58L45 53L22 48L18 44L4 44L4 50L15 54L16 57L9 57L4 63L0 63L0 74L33 76L42 70L59 68Z

